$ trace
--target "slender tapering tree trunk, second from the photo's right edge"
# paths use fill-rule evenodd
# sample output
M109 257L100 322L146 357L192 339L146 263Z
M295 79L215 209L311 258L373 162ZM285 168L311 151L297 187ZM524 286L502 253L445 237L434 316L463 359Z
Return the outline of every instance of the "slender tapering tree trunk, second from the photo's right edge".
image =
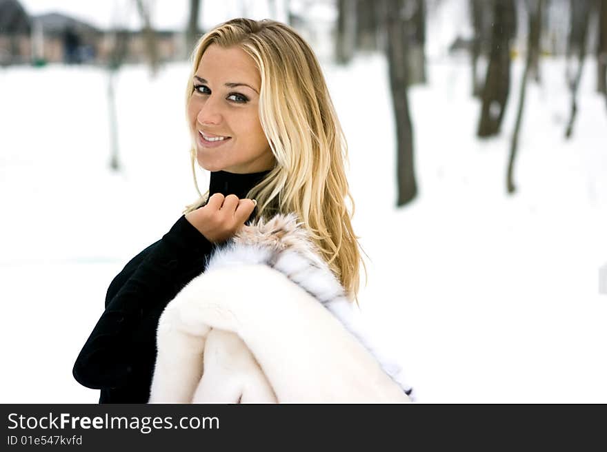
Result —
M573 125L577 115L577 89L581 80L581 72L586 60L586 39L588 37L588 18L590 17L591 0L570 0L571 28L567 48L567 82L571 92L571 113L565 130L565 138L571 138ZM577 56L577 71L573 75L573 55Z

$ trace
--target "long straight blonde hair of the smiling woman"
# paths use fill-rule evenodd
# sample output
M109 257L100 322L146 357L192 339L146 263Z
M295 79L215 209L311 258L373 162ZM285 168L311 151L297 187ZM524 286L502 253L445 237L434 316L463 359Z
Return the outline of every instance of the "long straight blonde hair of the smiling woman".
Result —
M365 276L366 267L352 230L355 203L344 170L348 146L314 52L295 30L277 21L222 23L201 37L192 53L186 104L194 91L194 74L211 44L238 45L261 74L259 120L276 165L247 195L257 200L257 217L295 212L350 300L358 301L360 264ZM190 156L201 198L184 213L208 198L208 191L201 194L198 188L193 147Z

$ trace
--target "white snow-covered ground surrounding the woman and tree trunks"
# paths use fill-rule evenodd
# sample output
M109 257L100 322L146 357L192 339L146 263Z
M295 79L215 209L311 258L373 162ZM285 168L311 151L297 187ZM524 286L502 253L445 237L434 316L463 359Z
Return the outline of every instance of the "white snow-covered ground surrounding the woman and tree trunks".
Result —
M371 259L362 309L419 402L607 402L607 110L588 61L564 141L564 63L542 68L543 85L528 90L519 192L507 196L520 63L504 132L477 141L468 61L430 61L428 85L410 90L419 197L397 209L386 62L324 63ZM0 70L1 402L97 401L71 370L110 280L196 198L187 76L185 63L156 79L121 71L123 172L112 174L103 71Z

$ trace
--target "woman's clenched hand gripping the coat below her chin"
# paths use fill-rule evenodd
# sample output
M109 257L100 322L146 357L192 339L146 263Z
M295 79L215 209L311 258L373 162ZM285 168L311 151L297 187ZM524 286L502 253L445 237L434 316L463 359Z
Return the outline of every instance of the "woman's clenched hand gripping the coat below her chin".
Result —
M239 199L235 194L216 193L208 203L189 214L186 220L212 243L219 243L236 234L255 209L257 201Z

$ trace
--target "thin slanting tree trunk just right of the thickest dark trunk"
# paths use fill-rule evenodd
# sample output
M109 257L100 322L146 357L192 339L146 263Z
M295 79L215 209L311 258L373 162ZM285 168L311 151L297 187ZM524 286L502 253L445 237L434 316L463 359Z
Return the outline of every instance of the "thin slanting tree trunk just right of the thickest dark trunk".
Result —
M525 62L525 70L523 72L523 79L521 80L521 90L519 95L519 110L517 111L517 121L515 123L515 130L513 132L512 141L510 142L510 157L508 158L508 173L506 174L506 189L508 193L514 193L516 187L514 184L514 165L515 157L519 148L519 131L521 130L521 123L523 121L523 109L525 107L525 94L527 91L527 80L532 73L532 68L537 63L537 54L533 50L536 36L531 30L539 30L541 28L541 8L544 0L526 0L527 11L529 15L529 33L527 37L527 59ZM534 62L534 59L536 61Z

